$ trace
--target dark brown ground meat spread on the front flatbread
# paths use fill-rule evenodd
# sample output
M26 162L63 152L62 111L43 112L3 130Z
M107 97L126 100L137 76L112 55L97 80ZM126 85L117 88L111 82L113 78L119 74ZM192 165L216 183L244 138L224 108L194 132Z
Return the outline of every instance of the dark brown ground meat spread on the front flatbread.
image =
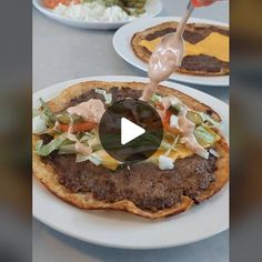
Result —
M140 98L142 91L112 88L110 92L113 101L119 101L128 97ZM91 90L71 100L71 104L88 101L93 95L103 100ZM41 139L44 144L52 140L48 134ZM61 155L57 151L43 157L42 161L53 167L59 182L72 192L91 192L94 199L105 202L127 199L152 212L179 203L181 195L198 196L214 180L216 169L212 155L209 160L199 155L177 160L172 170L160 170L152 163L137 163L111 171L90 161L77 163L74 154Z

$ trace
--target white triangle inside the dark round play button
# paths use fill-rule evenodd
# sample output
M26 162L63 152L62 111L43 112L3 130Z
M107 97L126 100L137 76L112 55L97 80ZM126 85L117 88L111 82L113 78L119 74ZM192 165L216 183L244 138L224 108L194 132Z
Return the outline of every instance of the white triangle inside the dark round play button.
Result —
M125 144L145 133L145 130L138 124L121 118L121 144Z

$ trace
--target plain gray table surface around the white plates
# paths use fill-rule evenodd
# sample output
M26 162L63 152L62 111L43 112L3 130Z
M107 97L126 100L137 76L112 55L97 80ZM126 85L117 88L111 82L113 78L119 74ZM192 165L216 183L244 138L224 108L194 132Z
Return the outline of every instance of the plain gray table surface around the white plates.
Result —
M160 16L182 16L188 1L163 0ZM33 91L70 79L91 75L147 74L124 62L112 47L114 31L90 31L66 27L36 9L33 16ZM229 22L228 2L194 10L193 17ZM187 84L225 102L229 88ZM97 246L74 240L33 220L33 261L229 261L229 232L190 245L152 251L128 251Z

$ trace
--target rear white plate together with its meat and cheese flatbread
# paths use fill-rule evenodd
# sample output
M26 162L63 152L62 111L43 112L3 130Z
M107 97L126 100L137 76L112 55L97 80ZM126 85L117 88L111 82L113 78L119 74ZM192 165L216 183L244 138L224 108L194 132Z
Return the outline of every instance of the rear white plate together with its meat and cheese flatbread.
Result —
M117 53L148 71L148 61L161 38L175 31L179 17L144 19L120 28L113 37ZM191 18L184 32L185 54L170 79L203 85L229 85L229 26Z

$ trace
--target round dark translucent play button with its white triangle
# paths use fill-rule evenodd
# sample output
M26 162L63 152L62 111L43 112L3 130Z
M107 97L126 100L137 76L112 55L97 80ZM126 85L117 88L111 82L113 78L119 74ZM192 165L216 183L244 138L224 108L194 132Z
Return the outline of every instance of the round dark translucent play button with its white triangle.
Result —
M140 162L160 147L163 127L157 110L149 103L124 99L111 104L99 124L102 148L120 162Z

